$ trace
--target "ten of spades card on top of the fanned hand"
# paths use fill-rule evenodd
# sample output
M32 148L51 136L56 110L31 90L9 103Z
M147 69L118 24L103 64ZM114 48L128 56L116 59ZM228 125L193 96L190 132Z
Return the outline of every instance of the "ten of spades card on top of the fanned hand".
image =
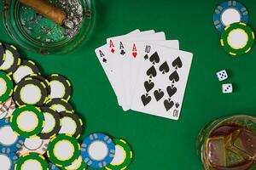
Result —
M193 54L148 44L141 57L131 110L177 120ZM147 48L148 48L147 46Z

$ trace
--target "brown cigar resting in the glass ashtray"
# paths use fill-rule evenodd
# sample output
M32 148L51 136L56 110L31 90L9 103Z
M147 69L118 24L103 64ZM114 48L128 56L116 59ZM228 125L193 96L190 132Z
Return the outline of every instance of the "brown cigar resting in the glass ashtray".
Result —
M53 20L55 23L62 25L63 20L67 18L67 14L61 8L49 3L47 0L19 0L20 3L32 8L38 14Z

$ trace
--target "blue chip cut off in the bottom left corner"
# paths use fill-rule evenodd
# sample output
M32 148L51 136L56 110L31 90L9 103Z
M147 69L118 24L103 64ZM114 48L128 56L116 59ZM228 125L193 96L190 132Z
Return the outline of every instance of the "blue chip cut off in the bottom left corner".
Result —
M13 170L15 169L15 162L18 156L15 152L10 152L8 150L0 150L0 166L2 170Z

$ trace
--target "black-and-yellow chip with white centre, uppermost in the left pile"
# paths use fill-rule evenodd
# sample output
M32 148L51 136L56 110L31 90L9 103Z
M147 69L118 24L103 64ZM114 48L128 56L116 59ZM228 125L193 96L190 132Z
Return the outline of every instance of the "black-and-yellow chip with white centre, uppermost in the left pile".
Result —
M4 44L4 47L5 59L3 65L0 66L0 70L13 74L20 65L20 54L13 45Z

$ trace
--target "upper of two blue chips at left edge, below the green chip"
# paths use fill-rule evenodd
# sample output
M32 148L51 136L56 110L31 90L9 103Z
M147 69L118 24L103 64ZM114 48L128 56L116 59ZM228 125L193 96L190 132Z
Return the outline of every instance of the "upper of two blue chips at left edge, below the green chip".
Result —
M15 152L21 148L24 141L24 138L13 131L8 118L0 120L0 150Z

